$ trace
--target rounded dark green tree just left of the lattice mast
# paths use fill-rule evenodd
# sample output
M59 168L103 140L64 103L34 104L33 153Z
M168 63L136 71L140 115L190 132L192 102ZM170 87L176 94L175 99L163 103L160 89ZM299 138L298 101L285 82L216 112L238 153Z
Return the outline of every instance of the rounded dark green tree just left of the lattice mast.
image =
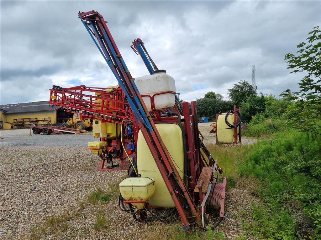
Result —
M228 89L228 93L232 102L240 106L241 102L246 102L250 96L256 95L256 90L247 81L241 80L238 84L233 84L233 86Z

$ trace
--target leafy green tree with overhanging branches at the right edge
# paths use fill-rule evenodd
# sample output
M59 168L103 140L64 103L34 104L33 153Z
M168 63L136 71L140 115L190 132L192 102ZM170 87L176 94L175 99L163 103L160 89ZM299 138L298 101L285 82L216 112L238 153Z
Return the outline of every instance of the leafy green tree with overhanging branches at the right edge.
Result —
M293 69L291 73L306 72L299 82L299 91L284 91L281 96L293 101L288 108L288 123L300 131L321 134L321 31L320 26L308 33L308 45L300 43L295 56L288 53L284 61Z

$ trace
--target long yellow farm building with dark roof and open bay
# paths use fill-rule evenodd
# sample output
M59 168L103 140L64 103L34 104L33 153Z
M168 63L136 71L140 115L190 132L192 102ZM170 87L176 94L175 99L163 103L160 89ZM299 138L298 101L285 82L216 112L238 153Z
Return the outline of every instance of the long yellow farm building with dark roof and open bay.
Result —
M48 101L0 105L0 128L29 128L31 124L55 124L67 121L73 114Z

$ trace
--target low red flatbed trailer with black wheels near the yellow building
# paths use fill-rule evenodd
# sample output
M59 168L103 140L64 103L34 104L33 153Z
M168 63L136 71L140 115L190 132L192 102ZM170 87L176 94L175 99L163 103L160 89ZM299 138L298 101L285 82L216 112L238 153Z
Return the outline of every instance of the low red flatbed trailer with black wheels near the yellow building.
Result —
M59 127L59 126L30 126L30 132L29 135L31 135L31 132L35 135L39 135L41 132L43 135L49 135L51 133L56 134L63 134L63 133L69 133L69 134L79 134L79 133L86 133L88 131L85 130L79 130L79 129L73 129L73 128L65 128L65 127Z

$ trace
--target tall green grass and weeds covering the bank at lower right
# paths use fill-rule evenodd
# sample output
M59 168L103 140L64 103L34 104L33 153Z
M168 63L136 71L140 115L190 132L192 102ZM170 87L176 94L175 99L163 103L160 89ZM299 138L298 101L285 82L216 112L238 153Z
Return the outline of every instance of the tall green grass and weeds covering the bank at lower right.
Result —
M251 146L206 146L228 188L241 177L264 200L252 206L251 223L242 224L247 236L321 239L321 136L289 130L280 118L249 124L243 133L262 139Z

